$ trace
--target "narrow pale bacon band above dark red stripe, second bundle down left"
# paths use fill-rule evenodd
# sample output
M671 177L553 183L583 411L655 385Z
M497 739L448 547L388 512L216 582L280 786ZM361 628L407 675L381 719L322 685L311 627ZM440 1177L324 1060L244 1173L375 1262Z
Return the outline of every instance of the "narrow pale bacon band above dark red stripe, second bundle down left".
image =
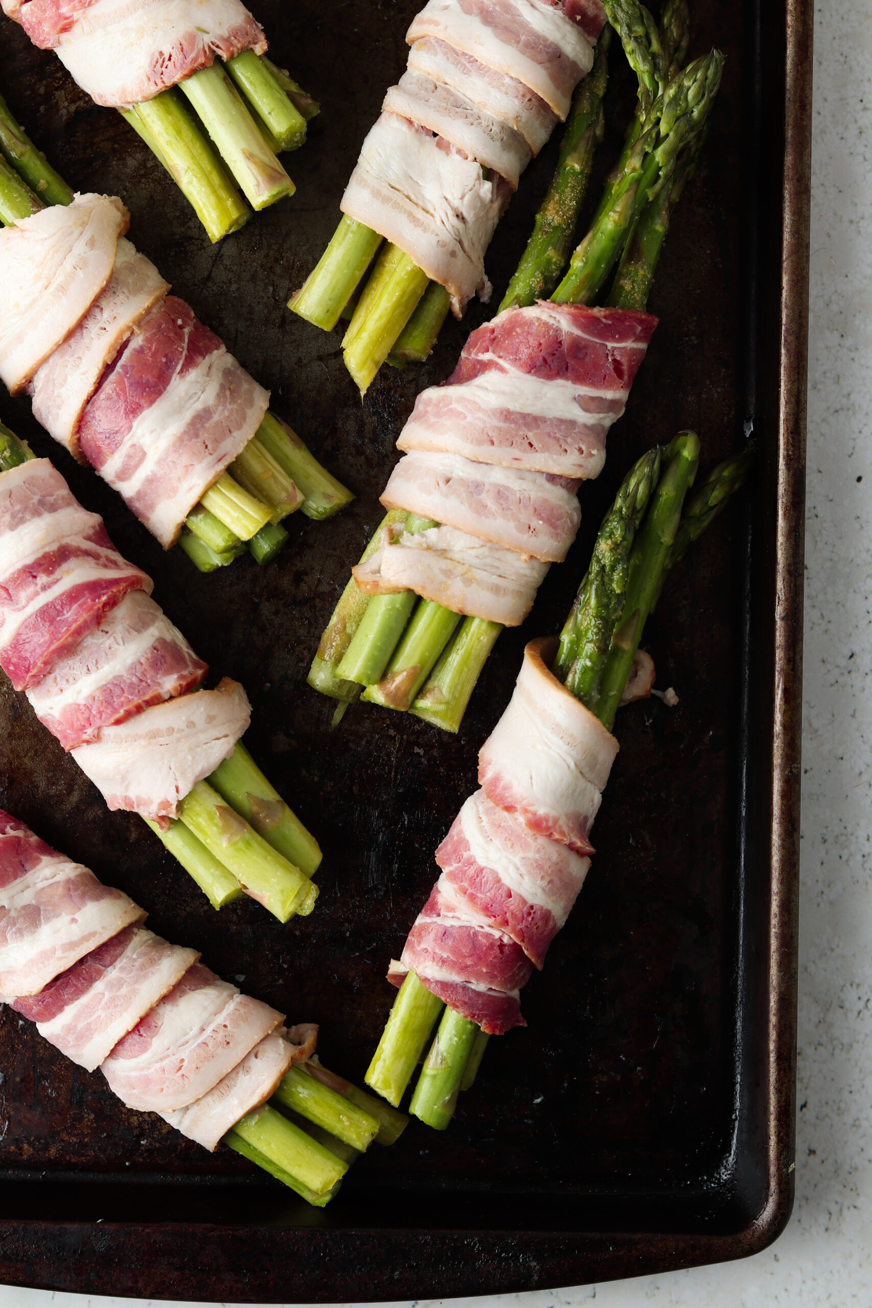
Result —
M106 365L169 289L150 259L122 238L105 289L30 383L34 417L73 458L81 460L78 420Z

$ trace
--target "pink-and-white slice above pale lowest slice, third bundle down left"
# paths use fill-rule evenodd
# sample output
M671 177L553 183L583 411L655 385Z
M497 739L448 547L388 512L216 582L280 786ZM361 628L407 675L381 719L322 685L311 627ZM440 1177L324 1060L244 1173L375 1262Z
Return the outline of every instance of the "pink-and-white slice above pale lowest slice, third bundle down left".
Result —
M102 727L196 689L207 672L154 600L132 591L27 698L64 749L75 749Z

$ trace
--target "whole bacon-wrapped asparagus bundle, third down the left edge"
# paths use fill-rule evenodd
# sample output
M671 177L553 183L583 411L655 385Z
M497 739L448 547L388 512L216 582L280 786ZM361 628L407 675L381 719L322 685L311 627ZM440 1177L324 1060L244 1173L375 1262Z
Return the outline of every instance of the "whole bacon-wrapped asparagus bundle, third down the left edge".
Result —
M241 743L251 705L152 600L47 459L0 426L0 667L112 810L139 812L214 908L312 910L320 849ZM196 693L195 693L196 692Z

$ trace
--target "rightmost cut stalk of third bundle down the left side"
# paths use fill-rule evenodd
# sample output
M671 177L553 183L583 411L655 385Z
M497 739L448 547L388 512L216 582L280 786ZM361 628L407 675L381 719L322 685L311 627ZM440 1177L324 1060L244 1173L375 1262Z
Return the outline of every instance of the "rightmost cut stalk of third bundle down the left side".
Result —
M305 876L315 875L323 858L318 841L264 777L241 740L208 780L230 807L251 823L258 835L289 863Z

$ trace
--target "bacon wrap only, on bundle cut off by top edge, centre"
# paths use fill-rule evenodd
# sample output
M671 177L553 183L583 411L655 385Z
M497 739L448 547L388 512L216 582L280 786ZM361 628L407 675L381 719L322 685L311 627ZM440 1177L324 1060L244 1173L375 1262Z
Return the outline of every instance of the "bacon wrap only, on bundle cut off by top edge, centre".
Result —
M566 118L604 22L600 0L430 0L408 30L408 71L341 208L446 286L458 318L476 292L489 297L497 222Z

